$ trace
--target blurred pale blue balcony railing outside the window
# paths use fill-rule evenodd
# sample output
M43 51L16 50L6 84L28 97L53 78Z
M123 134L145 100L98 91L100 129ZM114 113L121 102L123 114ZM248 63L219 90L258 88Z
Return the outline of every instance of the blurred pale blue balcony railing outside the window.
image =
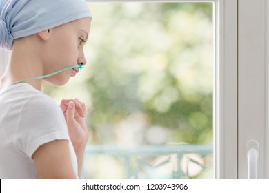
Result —
M210 171L213 177L212 145L142 145L122 147L114 145L88 145L83 167L83 178L94 179L88 174L96 156L111 156L121 165L126 179L192 179L208 178L201 174ZM106 159L103 157L103 159ZM90 163L87 163L90 162ZM106 161L103 161L104 164ZM90 166L89 166L90 165ZM102 166L101 166L102 167ZM113 167L113 165L111 165ZM110 168L111 168L110 167ZM112 168L111 168L112 169ZM93 169L95 173L97 168ZM113 170L114 171L114 170ZM112 170L107 171L112 172ZM102 178L102 176L99 176Z

